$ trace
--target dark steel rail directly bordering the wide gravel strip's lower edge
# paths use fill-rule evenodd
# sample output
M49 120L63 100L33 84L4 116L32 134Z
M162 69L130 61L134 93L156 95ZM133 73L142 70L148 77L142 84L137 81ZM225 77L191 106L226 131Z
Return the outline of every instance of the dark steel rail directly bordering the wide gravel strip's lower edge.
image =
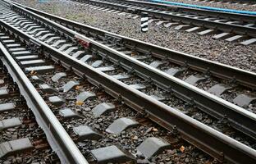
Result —
M113 34L89 25L81 24L75 21L69 21L60 16L53 16L52 14L38 11L31 7L25 7L23 5L19 6L85 34L92 34L101 37L112 37L117 40L121 40L121 42L124 43L128 48L136 48L136 50L139 50L139 52L150 53L154 57L169 60L170 62L181 66L190 66L190 68L194 69L195 71L208 72L211 75L224 80L235 80L238 84L244 85L245 87L249 87L251 89L256 88L256 74L253 72L244 71L242 69L235 68L233 66L227 66L217 62L212 62L200 57L194 57L192 55L183 52L177 52L169 48L162 48L160 46L145 43L137 39L130 39L128 37Z

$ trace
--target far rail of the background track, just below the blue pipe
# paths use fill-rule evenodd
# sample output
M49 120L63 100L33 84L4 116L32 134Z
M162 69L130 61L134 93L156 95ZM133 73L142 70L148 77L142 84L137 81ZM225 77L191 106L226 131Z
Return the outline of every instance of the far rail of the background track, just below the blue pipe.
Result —
M139 5L142 7L153 7L153 8L165 10L165 11L176 11L176 12L182 11L188 14L197 14L199 16L214 16L217 18L226 18L231 21L245 21L249 23L256 22L256 16L252 16L252 15L235 14L235 13L224 12L224 11L210 11L210 10L203 10L199 8L173 6L171 4L147 2L147 1L144 2L144 1L137 1L137 0L110 0L110 1L122 2L122 3L132 4L132 5Z

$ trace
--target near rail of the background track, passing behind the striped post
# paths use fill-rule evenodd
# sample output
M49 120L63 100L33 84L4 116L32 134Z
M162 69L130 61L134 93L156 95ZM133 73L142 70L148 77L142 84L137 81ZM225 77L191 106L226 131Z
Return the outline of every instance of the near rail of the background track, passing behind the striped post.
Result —
M137 14L141 14L142 12L147 12L148 15L153 18L158 18L166 21L177 21L184 24L188 24L188 25L195 25L195 26L204 27L204 28L213 29L213 30L221 30L223 32L228 32L228 33L256 37L256 28L247 27L247 26L245 27L243 25L226 24L226 23L215 22L215 21L205 21L205 20L200 20L193 17L177 16L169 13L163 13L161 11L149 11L146 9L140 9L139 7L127 7L121 4L112 4L110 2L102 2L102 1L94 1L94 0L89 0L89 1L79 0L79 1L87 2L95 6L108 7L115 10L126 11L126 12L129 12L130 9L133 9Z

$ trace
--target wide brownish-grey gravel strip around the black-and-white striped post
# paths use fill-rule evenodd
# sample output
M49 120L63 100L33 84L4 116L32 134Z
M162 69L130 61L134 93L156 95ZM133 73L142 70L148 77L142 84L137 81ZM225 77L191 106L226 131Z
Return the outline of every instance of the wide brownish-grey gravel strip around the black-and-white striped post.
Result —
M199 36L199 34L195 33L174 30L175 26L166 28L155 25L155 23L149 24L148 33L142 33L140 32L139 18L129 19L126 16L119 16L107 11L98 11L69 2L39 3L32 0L17 2L112 33L256 72L255 44L243 46L239 42L229 43L224 40L212 39L213 34Z

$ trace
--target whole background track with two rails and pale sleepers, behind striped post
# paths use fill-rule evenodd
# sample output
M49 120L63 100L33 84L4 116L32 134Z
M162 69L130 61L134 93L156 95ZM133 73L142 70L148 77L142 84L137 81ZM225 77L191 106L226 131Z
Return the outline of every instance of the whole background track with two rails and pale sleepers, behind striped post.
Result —
M196 32L199 35L213 34L213 39L225 39L243 45L256 42L255 16L130 0L75 0L73 3L85 3L85 6L95 10L134 18L138 18L142 12L147 12L149 22L156 22L156 25L164 25L167 28L175 26L175 30Z

